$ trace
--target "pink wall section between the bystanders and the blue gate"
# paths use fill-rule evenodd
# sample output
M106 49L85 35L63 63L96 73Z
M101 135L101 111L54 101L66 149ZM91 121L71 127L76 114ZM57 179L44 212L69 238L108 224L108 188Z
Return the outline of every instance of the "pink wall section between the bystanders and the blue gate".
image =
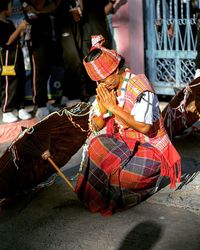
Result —
M135 74L144 73L143 1L117 0L112 16L116 50Z

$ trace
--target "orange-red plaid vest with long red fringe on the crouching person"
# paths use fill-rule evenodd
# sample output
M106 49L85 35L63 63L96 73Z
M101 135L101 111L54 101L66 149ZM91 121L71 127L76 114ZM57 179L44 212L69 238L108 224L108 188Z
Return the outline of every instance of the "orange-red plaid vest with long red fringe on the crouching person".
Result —
M125 92L125 102L123 106L124 110L128 113L131 113L138 96L140 96L140 94L144 91L154 92L153 87L149 83L146 76L144 74L140 74L131 77ZM117 121L116 118L115 120ZM116 125L114 128L112 128L112 125L110 126L108 124L107 127L111 127L114 132L118 130ZM107 131L110 133L109 130ZM124 127L123 129L120 128L120 133L122 134L123 138L134 138L139 140L141 143L148 142L153 147L155 147L160 152L160 154L162 154L163 158L163 163L161 165L161 175L170 178L171 188L176 186L177 181L180 182L181 158L168 137L163 124L162 116L160 116L159 120L153 123L152 128L146 135L127 127Z

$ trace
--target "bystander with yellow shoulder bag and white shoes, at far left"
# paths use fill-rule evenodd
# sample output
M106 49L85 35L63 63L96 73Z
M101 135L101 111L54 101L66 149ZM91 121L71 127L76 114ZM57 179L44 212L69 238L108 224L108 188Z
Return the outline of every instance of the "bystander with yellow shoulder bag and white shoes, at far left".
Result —
M1 76L0 97L3 111L3 122L12 123L27 120L31 115L24 109L25 98L25 68L22 50L19 44L20 35L26 30L28 23L22 21L15 28L8 18L12 15L12 1L0 1L0 46L1 46ZM4 65L15 65L15 73L3 73ZM18 117L12 112L18 109Z

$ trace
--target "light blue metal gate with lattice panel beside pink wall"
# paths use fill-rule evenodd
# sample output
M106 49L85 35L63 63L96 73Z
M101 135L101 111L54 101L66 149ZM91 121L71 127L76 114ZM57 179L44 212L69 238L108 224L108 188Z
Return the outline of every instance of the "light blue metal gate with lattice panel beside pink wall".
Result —
M156 93L174 95L195 74L200 0L145 0L146 73Z

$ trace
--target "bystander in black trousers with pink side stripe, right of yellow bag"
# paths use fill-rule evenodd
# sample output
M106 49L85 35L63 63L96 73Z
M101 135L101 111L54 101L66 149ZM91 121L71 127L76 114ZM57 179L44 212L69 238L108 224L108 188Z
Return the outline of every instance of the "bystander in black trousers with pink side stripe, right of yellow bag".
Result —
M22 6L31 24L33 103L37 110L35 116L41 120L49 114L46 106L47 83L53 64L50 14L54 12L56 5L52 0L26 0L22 1Z

